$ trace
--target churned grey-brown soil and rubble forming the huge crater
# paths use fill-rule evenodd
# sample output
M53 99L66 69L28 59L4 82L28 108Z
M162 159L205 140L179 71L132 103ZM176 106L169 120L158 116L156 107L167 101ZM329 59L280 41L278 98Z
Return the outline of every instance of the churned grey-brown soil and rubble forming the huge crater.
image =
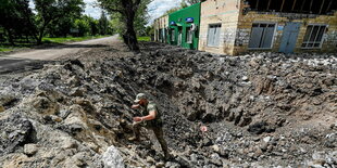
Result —
M1 75L0 167L337 167L335 54L141 49ZM163 114L171 160L151 131L127 140L138 92Z

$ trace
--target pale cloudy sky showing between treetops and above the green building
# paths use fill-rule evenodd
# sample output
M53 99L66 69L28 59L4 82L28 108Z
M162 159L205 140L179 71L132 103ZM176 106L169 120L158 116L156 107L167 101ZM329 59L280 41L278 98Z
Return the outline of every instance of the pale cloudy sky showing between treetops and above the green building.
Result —
M85 14L90 15L93 18L99 18L101 15L101 9L95 7L97 0L84 0L86 3ZM153 22L154 18L161 16L173 7L178 7L182 0L153 0L149 4L149 14L150 14L150 24ZM34 8L34 3L30 0L30 7Z

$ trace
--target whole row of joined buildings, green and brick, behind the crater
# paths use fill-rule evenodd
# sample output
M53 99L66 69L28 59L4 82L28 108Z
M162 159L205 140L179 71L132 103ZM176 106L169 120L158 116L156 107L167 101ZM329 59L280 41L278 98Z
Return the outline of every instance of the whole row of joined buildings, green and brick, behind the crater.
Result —
M196 18L194 33L188 17ZM205 0L170 14L166 35L171 44L227 55L336 53L337 1Z

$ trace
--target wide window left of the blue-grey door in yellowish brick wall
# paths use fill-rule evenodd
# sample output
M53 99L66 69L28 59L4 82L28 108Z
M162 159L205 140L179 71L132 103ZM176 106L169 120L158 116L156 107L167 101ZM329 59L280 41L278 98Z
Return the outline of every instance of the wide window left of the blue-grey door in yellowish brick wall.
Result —
M250 49L271 49L275 33L275 24L254 23L252 24L249 46Z

